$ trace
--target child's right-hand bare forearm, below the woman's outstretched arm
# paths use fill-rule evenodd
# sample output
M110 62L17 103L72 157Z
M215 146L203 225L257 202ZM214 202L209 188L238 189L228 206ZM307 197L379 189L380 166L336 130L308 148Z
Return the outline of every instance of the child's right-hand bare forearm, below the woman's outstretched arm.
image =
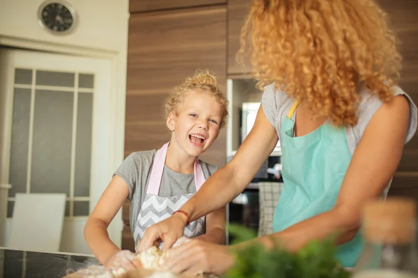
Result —
M196 237L196 240L205 241L206 243L225 244L225 222L225 207L209 213L206 215L206 233Z

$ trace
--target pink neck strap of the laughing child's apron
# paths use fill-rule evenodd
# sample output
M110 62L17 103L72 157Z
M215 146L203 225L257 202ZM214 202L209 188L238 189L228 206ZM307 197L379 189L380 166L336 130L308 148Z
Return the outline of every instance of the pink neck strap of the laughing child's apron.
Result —
M158 195L158 193L160 193L162 172L164 171L169 144L170 142L164 144L164 146L157 150L157 153L155 154L150 180L148 181L148 188L146 190L147 194ZM196 185L196 191L201 188L205 181L206 179L203 174L202 167L199 164L199 158L196 158L196 161L194 161L194 183Z

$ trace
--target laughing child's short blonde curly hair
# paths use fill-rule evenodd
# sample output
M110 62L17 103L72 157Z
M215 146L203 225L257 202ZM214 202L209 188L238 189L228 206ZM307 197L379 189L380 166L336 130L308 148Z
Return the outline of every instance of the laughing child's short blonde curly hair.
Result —
M210 73L208 70L196 70L194 76L188 76L183 84L174 88L164 104L166 117L168 117L171 112L177 111L178 104L183 101L183 97L191 90L205 92L212 97L215 97L217 102L222 105L222 120L219 125L221 128L226 126L229 117L229 101L219 89L214 74Z

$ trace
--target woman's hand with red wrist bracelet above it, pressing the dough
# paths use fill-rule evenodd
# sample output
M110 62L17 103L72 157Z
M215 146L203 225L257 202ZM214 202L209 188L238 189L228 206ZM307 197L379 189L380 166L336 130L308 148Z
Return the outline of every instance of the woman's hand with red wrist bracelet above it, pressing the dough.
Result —
M159 246L161 242L163 242L162 251L169 250L176 240L183 236L186 224L187 218L185 215L175 213L169 218L148 227L141 241L139 241L137 252L148 250L153 245Z

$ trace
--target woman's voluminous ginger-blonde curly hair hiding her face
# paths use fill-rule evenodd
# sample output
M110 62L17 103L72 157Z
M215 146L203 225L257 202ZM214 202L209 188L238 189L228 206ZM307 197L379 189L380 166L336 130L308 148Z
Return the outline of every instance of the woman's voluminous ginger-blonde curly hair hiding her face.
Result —
M258 86L304 101L316 117L357 124L359 85L387 102L401 55L373 0L254 0L241 31Z

